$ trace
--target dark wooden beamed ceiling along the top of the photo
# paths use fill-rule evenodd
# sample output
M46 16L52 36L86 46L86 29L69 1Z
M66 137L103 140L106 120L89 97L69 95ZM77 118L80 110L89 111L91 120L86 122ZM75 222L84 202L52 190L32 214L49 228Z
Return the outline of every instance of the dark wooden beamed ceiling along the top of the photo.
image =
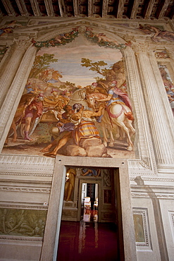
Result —
M172 20L174 0L0 0L0 16Z

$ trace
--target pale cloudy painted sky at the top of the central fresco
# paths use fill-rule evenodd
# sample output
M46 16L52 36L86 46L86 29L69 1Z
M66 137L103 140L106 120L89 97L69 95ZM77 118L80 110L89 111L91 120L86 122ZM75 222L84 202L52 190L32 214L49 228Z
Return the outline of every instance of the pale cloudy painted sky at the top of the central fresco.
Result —
M105 61L109 68L113 63L122 59L122 54L118 49L109 49L99 47L97 44L89 42L83 35L75 38L69 44L60 47L42 48L38 55L44 53L54 54L54 58L58 59L57 63L51 63L50 67L58 70L63 75L60 80L62 82L69 81L75 85L91 85L94 77L100 76L99 73L89 71L89 68L82 67L81 59L87 58L94 61Z

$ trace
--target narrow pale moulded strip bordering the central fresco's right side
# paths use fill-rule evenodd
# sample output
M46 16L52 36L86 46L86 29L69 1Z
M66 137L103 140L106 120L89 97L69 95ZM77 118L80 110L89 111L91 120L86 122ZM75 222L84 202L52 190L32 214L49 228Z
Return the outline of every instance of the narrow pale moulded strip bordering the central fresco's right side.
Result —
M142 83L139 78L139 69L135 58L134 51L127 47L123 50L126 72L128 77L128 85L130 91L130 99L133 101L136 138L135 144L138 146L139 159L130 160L130 169L138 169L142 173L156 173L156 162L154 150L151 142L151 135L147 119L146 107L143 99ZM136 166L135 166L136 165ZM131 171L130 171L131 172Z

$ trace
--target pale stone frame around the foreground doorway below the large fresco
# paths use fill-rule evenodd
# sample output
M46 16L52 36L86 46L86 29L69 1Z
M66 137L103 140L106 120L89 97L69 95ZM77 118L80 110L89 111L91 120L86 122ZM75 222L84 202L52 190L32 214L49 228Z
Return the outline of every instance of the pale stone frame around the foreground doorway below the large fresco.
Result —
M84 167L94 166L102 168L118 169L118 183L120 187L120 224L122 225L123 252L120 261L137 260L135 247L135 230L133 223L133 213L131 205L130 181L128 172L128 159L110 159L110 158L90 158L82 157L78 160L75 157L56 156L51 194L49 199L49 208L46 218L46 226L44 231L44 240L40 261L56 261L58 249L58 237L61 226L61 212L63 206L63 194L66 179L66 167ZM129 235L129 236L128 236Z

